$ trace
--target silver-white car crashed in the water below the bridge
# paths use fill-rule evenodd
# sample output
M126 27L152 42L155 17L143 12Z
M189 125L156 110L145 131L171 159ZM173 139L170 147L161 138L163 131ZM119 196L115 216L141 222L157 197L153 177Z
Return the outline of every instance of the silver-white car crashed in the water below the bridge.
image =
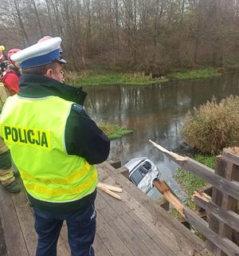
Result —
M159 179L159 169L147 157L129 160L123 165L129 170L129 180L147 195L151 195L153 182Z

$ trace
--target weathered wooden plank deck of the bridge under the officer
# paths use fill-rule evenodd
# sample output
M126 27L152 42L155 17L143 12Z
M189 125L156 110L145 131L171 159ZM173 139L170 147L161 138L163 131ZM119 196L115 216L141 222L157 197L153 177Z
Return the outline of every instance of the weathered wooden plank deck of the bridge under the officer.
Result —
M119 174L108 162L97 167L100 181L122 187L122 200L99 191L96 199L96 256L210 256L206 243ZM10 195L0 188L1 256L34 256L37 234L25 191ZM64 224L57 255L69 256Z

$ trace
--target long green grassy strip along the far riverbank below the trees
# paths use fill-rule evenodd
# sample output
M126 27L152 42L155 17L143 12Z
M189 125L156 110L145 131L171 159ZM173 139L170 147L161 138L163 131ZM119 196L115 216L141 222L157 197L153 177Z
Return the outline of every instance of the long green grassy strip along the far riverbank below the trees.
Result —
M69 85L99 86L99 85L153 85L165 83L170 80L190 80L208 77L219 77L230 69L207 68L180 70L166 75L153 75L152 73L116 73L101 70L84 70L81 73L67 72L65 80ZM237 70L235 68L235 70Z

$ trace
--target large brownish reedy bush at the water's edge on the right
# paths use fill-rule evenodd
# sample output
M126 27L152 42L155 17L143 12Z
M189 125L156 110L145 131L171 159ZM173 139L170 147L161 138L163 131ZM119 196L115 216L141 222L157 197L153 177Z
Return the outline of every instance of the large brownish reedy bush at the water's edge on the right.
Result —
M187 116L182 136L191 147L210 154L239 144L239 97L229 96L219 104L213 98L194 108L194 116Z

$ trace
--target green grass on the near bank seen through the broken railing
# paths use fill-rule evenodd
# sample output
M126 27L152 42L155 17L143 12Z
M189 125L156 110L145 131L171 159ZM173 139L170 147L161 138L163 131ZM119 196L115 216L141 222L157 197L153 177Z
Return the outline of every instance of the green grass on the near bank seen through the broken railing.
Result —
M196 155L194 156L194 160L202 163L210 168L215 168L216 163L216 156L210 155ZM181 185L183 190L186 192L187 195L187 203L186 206L190 207L192 210L196 210L196 205L192 201L192 195L194 195L194 191L197 189L206 186L206 181L203 179L198 178L197 175L191 174L189 171L185 171L182 168L178 168L178 171L174 175L174 179ZM174 217L178 217L180 214L178 211L173 209L172 215Z

